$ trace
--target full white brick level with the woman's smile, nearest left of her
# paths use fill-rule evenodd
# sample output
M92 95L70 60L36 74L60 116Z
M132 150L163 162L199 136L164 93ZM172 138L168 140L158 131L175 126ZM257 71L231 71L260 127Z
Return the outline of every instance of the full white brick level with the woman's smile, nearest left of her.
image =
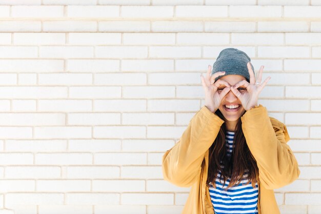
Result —
M183 108L184 107L184 108ZM199 110L199 100L152 100L149 99L147 103L148 111L192 111L196 112Z

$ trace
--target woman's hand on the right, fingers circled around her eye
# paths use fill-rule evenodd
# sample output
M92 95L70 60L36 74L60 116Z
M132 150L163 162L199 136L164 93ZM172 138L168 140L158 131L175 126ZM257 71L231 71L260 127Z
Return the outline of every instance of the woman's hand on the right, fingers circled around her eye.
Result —
M231 91L237 96L237 98L241 101L243 108L247 111L251 109L252 107L257 105L258 95L262 91L262 89L265 87L265 85L268 83L268 81L271 79L270 76L268 76L263 83L262 82L262 73L264 66L261 66L258 74L257 74L257 80L255 82L255 76L254 72L252 70L252 67L250 63L247 64L249 74L250 74L250 83L248 83L246 80L242 80L238 83L236 83L234 86L231 86ZM245 87L246 90L244 92L239 91L238 87Z

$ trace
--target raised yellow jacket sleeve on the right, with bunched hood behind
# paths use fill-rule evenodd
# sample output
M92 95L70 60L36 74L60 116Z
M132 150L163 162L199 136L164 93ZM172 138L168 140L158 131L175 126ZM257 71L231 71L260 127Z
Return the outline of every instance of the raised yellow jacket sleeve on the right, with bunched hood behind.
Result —
M300 170L287 145L290 137L286 126L269 118L262 105L248 110L241 120L247 145L257 163L260 183L267 189L277 189L296 180Z

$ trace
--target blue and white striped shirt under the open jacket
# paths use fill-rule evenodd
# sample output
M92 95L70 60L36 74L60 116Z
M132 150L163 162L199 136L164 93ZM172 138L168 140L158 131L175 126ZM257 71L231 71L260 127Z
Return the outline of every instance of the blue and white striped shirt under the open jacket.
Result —
M233 150L233 138L234 132L227 131L226 133L226 147L227 156L231 157ZM252 187L252 183L248 182L248 174L244 174L242 181L229 187L226 191L225 188L229 185L230 179L228 178L224 184L224 180L219 180L221 172L218 170L218 174L215 180L216 187L210 182L210 196L213 204L215 214L223 213L258 213L257 201L258 201L258 187L255 183L255 188ZM224 184L224 185L223 185Z

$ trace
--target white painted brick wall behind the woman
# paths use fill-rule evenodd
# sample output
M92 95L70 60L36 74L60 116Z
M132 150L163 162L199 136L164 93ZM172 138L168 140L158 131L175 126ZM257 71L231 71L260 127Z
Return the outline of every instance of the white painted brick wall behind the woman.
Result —
M319 214L320 0L1 0L0 214L178 214L163 153L227 47L271 76L300 178L282 214Z

